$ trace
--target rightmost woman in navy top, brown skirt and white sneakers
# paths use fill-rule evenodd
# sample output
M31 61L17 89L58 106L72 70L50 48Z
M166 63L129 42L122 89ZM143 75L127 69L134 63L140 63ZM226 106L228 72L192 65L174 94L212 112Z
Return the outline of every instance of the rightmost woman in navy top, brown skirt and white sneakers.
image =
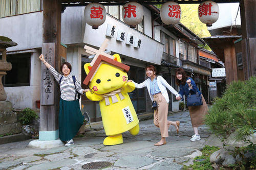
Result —
M195 134L192 136L190 141L200 140L200 135L198 134L198 127L204 124L203 118L207 113L208 106L204 100L204 97L199 91L195 81L189 77L186 77L186 72L182 68L176 70L176 84L180 86L180 91L177 100L184 100L183 95L187 96L189 92L201 94L203 105L202 106L191 106L188 107L189 115L191 118L191 124L194 129Z

